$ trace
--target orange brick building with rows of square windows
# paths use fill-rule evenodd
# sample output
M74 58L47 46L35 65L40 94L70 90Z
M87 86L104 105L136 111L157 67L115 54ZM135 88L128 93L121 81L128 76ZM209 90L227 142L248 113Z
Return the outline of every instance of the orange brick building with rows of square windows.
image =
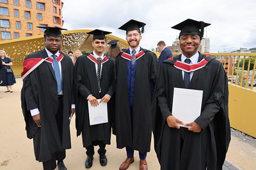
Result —
M0 41L42 34L36 26L62 27L61 0L0 0Z

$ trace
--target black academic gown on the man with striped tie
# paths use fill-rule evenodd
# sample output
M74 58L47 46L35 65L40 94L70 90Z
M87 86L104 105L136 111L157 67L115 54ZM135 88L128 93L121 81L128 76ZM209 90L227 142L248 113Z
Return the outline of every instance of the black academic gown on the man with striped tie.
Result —
M93 53L91 53L93 55ZM90 125L88 113L87 97L92 96L101 99L108 94L113 96L114 90L112 81L114 79L115 60L108 57L108 61L102 64L100 93L98 89L97 73L95 71L95 62L88 58L88 55L82 55L76 60L75 66L75 94L76 94L76 129L77 136L82 132L83 146L92 145L93 141L103 141L110 144L111 138L111 99L108 102L108 123Z

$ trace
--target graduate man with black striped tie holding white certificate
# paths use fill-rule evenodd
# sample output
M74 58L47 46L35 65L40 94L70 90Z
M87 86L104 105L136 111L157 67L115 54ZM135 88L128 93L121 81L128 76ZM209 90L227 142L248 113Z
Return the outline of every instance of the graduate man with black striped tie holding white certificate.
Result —
M110 145L111 113L113 112L111 96L114 90L115 60L104 54L106 48L106 34L108 31L95 29L87 34L93 35L93 52L81 55L75 65L75 93L76 99L76 129L77 136L82 132L83 146L86 148L87 159L85 167L93 164L94 146L99 145L99 160L101 166L106 166L106 145ZM99 100L99 101L98 101ZM97 107L99 103L108 103L108 122L92 124L89 121L88 103Z

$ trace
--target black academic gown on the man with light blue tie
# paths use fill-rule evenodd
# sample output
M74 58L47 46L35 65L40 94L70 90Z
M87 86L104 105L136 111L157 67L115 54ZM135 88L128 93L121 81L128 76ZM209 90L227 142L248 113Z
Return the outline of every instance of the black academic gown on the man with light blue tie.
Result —
M41 50L27 55L25 60L31 58L44 59L46 57L48 57L46 51ZM42 127L39 128L41 129L41 137L39 142L34 143L35 157L40 162L51 159L51 153L71 148L68 117L70 116L71 104L74 102L74 66L67 55L64 55L61 60L61 75L63 120L56 120L55 118L58 109L56 107L58 106L58 94L57 81L52 64L43 62L23 80L21 103L29 139L32 139L36 131L38 131L38 127L33 121L29 110L38 108L40 111ZM62 143L56 121L63 121Z

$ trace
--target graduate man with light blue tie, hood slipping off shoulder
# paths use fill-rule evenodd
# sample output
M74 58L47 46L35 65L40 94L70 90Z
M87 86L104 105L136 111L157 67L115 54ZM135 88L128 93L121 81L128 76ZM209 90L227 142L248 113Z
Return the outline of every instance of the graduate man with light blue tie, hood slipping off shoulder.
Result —
M22 111L36 160L47 170L55 169L58 160L58 169L65 170L65 150L71 148L69 118L74 114L74 66L60 51L63 29L42 28L45 48L27 55L23 64Z

